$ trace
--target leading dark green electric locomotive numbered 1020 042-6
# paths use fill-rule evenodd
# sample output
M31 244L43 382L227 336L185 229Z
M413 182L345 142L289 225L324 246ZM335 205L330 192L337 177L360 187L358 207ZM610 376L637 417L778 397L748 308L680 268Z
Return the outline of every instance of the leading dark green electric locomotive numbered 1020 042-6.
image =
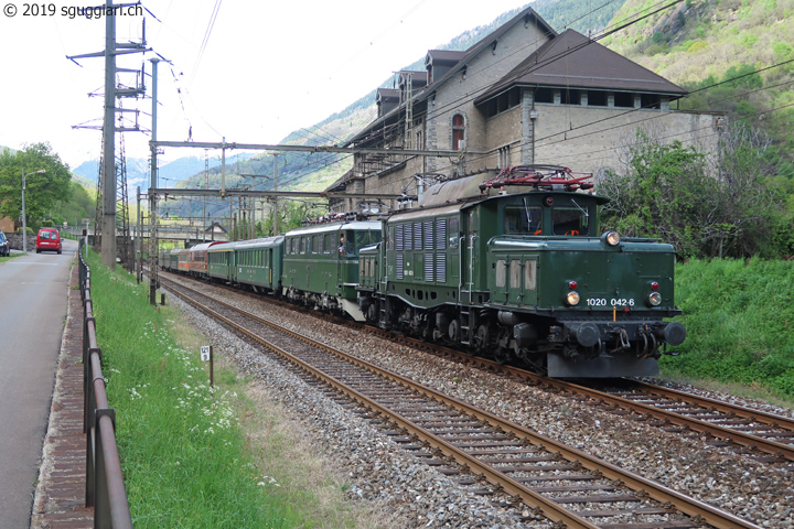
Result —
M551 377L655 375L686 337L665 321L673 247L601 234L588 177L522 166L430 187L361 250L363 315Z

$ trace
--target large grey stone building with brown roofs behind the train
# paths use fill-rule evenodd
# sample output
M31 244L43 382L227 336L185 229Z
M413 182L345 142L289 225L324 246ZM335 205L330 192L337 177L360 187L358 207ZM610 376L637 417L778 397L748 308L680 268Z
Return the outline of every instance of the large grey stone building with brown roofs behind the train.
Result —
M412 198L441 180L533 163L598 173L616 166L637 127L706 152L717 142L717 115L672 107L686 90L573 30L557 33L532 8L464 52L429 51L425 66L377 90L377 118L347 147L448 153L357 153L326 191Z

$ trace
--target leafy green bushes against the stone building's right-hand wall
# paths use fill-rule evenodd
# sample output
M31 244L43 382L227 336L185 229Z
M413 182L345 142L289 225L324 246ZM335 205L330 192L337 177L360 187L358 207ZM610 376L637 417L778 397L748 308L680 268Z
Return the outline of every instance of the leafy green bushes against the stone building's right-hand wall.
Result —
M604 226L655 237L682 257L749 257L773 244L782 198L769 185L776 165L769 139L744 125L721 134L715 166L680 142L662 144L639 129L626 171L610 172L599 192Z

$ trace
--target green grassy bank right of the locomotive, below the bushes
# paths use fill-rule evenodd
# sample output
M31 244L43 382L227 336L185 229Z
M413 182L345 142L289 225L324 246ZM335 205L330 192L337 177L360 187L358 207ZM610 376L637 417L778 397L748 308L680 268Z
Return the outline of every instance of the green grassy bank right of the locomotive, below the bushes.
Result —
M794 262L691 260L676 267L687 339L663 373L794 401Z

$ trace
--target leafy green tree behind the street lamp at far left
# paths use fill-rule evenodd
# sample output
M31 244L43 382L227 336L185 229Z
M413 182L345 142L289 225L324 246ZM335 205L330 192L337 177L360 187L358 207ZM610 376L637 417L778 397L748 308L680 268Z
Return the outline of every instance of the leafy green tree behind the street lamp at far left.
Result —
M42 169L44 173L34 173ZM15 154L4 151L0 154L0 216L20 217L22 175L28 173L33 173L25 177L28 219L43 218L56 202L68 201L72 195L72 173L50 143L25 145Z

